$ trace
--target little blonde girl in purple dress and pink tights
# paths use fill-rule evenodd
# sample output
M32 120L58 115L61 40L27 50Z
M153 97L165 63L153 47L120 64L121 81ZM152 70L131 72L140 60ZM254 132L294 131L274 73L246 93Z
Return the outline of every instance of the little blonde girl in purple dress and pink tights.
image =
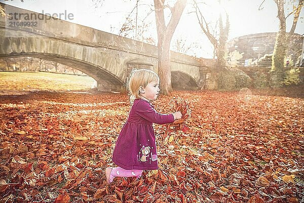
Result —
M133 69L131 72L129 91L133 105L113 152L112 160L118 167L105 169L108 184L115 177L139 178L143 170L158 169L152 124L173 123L181 118L180 111L162 114L151 105L150 100L159 95L159 80L159 76L148 69Z

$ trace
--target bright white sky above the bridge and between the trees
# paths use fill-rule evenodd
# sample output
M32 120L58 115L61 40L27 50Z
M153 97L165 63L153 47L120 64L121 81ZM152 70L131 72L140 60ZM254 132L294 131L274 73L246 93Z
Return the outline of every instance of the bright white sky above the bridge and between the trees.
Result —
M49 13L51 15L64 12L71 13L73 14L73 19L61 19L113 34L119 34L126 17L136 5L136 0L24 0L23 3L19 0L0 0L0 2L37 13ZM97 2L97 7L94 2ZM264 2L262 0L221 0L221 5L216 4L217 1L215 0L205 0L205 2L207 5L202 5L202 12L208 23L210 22L214 25L218 19L219 12L224 13L226 11L229 14L231 24L229 39L247 34L277 32L279 30L277 7L273 0L265 0ZM263 4L261 5L262 2ZM286 14L290 12L290 10L287 10L290 7L289 2L292 2L292 0L287 0ZM152 0L139 1L138 23L151 8L153 9L153 4ZM193 11L192 1L188 0L171 40L171 47L174 47L177 39L182 39L185 41L186 46L195 46L187 54L212 58L213 47L206 35L203 34ZM291 28L292 20L293 15L287 18L287 31ZM304 9L300 13L299 22L295 30L298 34L304 34L303 21ZM146 35L155 38L157 42L155 14L151 13L145 22L151 23Z

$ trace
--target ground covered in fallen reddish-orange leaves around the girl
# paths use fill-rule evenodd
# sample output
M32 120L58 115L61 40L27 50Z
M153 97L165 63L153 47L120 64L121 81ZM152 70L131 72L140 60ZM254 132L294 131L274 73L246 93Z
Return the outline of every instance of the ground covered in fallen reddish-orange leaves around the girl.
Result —
M0 96L0 202L303 202L304 99L173 92L190 103L187 134L155 125L159 170L104 170L127 119L125 94ZM127 152L126 152L127 153Z

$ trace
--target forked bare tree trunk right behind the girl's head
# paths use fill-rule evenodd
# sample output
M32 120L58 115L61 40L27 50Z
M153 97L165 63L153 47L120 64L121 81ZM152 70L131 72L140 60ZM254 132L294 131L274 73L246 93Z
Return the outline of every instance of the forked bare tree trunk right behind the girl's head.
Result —
M173 7L165 5L165 0L154 0L155 19L158 35L158 74L160 76L161 92L168 95L172 91L170 72L170 43L179 22L181 14L186 6L186 0L177 0ZM171 11L171 18L166 25L165 8Z

